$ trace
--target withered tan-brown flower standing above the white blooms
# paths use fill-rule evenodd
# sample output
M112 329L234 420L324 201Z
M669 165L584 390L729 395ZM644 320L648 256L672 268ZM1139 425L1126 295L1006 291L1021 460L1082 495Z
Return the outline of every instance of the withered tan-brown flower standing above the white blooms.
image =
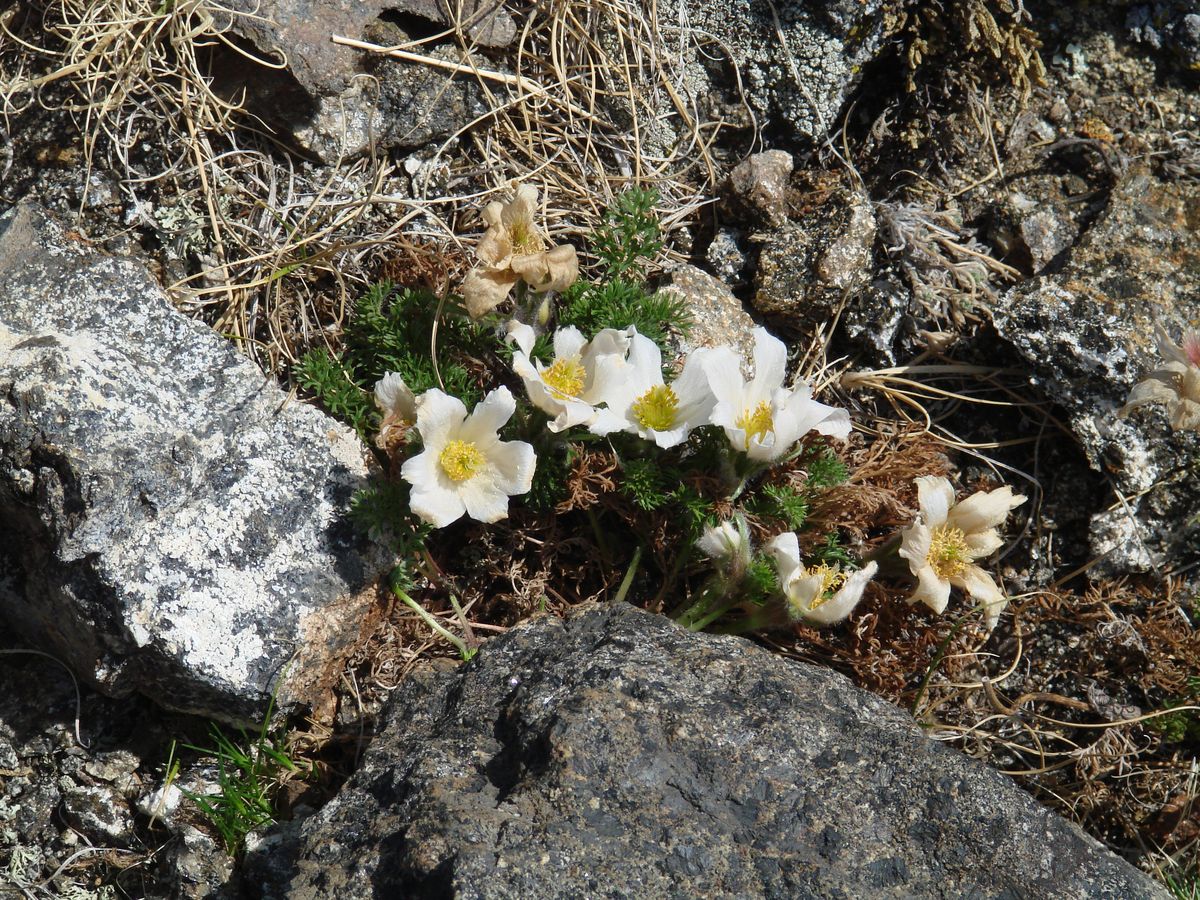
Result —
M534 222L536 208L538 188L521 185L510 203L496 200L484 209L487 230L475 247L480 265L467 272L462 283L462 299L472 318L478 319L503 304L518 281L547 292L564 290L578 277L575 247L550 246Z

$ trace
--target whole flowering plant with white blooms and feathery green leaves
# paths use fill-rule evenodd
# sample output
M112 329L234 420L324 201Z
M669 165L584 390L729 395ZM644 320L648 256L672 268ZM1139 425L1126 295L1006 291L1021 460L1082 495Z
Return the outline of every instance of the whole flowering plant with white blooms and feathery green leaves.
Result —
M484 210L479 264L461 284L470 318L443 322L444 335L496 338L494 349L473 343L451 360L463 397L491 388L474 409L454 396L437 367L422 368L413 354L396 358L407 383L398 371L376 376L377 444L395 463L392 470L398 468L401 502L416 541L463 518L498 522L512 504L544 516L582 509L596 556L608 556L614 524L630 535L626 544L636 540L619 595L634 584L653 534L659 565L667 560L670 566L659 596L678 587L674 595L685 599L674 617L685 628L833 626L854 616L868 584L887 566L874 558L856 563L835 538L811 540L809 533L802 541L797 533L803 534L816 492L844 478L829 444L850 437L848 412L816 400L806 382L788 379L787 348L764 328L754 331L750 360L728 346L683 358L665 353L665 313L673 307L619 281L636 270L619 242L610 234L607 244L593 247L619 263L610 268L607 286L571 287L578 277L575 250L551 246L535 222L536 205L536 190L524 185L511 202ZM638 215L647 208L630 205ZM644 221L625 230L641 235L638 246L654 245ZM517 302L505 306L515 287ZM534 302L526 302L530 293ZM662 311L664 320L648 310ZM458 322L469 328L460 329ZM420 349L427 353L426 347ZM494 365L503 360L506 368ZM414 383L437 386L414 391ZM344 390L338 396L346 402ZM605 491L622 497L624 508L605 508L616 510L608 521L587 505L572 505L578 498L563 499L572 461L598 452L608 468L587 482L592 493L582 496L593 504ZM918 492L917 520L884 545L916 577L912 600L941 612L956 586L995 624L1004 598L980 563L997 548L998 526L1024 498L1006 487L955 504L949 482L931 478L918 479ZM636 521L638 510L668 506L666 520L653 528ZM661 546L666 538L678 541L673 550Z

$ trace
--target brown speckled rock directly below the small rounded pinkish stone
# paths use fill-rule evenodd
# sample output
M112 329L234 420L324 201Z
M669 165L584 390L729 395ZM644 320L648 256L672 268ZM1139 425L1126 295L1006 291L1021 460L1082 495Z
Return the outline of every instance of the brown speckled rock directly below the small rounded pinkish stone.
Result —
M812 331L847 295L870 284L875 215L865 194L829 191L798 221L767 236L758 256L754 307Z

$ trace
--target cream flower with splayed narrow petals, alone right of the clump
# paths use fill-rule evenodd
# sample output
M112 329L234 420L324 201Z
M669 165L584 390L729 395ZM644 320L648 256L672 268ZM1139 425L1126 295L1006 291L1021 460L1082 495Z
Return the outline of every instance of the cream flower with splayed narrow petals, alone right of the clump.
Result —
M1004 485L995 491L977 491L955 504L954 488L947 479L922 475L917 479L917 502L920 512L901 532L900 542L900 556L917 576L917 590L910 602L920 600L941 613L953 584L984 606L988 628L995 628L1008 600L992 577L974 563L1000 550L1003 541L996 529L1010 510L1025 503L1025 497Z

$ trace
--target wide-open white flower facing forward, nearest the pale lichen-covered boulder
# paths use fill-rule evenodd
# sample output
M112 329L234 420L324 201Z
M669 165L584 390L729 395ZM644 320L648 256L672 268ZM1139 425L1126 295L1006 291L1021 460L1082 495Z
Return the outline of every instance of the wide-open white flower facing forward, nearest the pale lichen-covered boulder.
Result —
M467 415L467 407L436 388L416 403L416 431L425 449L400 474L413 491L409 505L434 528L464 512L480 522L509 514L509 497L526 493L536 464L523 440L500 440L497 433L516 409L508 388L498 388Z

